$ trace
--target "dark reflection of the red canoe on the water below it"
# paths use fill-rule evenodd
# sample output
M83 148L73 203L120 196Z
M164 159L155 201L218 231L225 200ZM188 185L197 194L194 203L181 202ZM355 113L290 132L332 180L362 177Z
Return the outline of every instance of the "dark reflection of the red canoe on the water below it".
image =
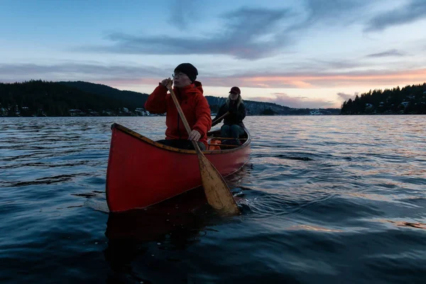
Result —
M184 250L200 241L206 234L203 220L206 210L210 211L204 192L197 189L148 209L109 213L105 231L108 238L108 246L104 250L105 261L117 273L130 275L133 280L146 281L132 271L132 261L155 256L147 255L150 242L157 244L160 250L170 251ZM168 261L178 262L180 259L168 258Z

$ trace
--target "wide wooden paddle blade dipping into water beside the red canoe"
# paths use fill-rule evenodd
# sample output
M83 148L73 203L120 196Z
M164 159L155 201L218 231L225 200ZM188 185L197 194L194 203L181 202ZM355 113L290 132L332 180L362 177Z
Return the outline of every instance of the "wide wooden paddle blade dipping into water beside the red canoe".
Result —
M200 153L201 154L201 153ZM234 197L222 175L214 168L214 165L204 155L198 155L202 186L207 197L207 202L221 214L240 214Z

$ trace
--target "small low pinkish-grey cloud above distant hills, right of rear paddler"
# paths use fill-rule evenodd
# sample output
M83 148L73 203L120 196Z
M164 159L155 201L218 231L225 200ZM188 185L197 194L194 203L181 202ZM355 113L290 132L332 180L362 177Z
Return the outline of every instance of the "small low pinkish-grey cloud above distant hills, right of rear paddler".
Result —
M319 108L330 108L336 107L337 103L332 101L326 101L318 98L308 97L290 97L285 93L273 93L274 97L251 97L250 100L257 102L273 102L280 104L285 107L294 108L308 108L308 109L319 109Z

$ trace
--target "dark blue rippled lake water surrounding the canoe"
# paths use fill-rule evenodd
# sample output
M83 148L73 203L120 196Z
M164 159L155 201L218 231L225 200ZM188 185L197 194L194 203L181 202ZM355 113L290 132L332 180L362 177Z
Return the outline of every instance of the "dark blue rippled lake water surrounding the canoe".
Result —
M0 283L426 283L426 116L250 116L241 216L109 214L110 125L164 121L0 118Z

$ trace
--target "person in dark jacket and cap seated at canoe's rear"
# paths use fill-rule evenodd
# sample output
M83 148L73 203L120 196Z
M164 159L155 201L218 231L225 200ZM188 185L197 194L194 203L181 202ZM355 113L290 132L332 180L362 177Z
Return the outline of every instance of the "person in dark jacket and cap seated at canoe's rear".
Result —
M212 121L212 126L219 124L222 121L221 116L227 112L229 114L224 116L224 125L221 127L222 137L235 138L237 143L239 143L239 137L244 134L243 119L246 117L246 107L244 107L239 87L231 88L229 97L219 108L217 116Z

